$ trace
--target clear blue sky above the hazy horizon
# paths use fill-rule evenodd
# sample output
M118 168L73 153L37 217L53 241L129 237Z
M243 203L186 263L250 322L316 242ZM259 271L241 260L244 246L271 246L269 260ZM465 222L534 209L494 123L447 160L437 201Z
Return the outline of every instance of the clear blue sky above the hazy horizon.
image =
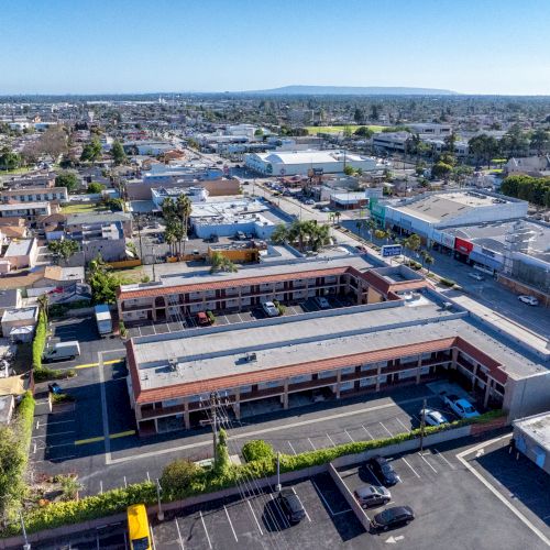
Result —
M0 94L550 95L550 0L1 0Z

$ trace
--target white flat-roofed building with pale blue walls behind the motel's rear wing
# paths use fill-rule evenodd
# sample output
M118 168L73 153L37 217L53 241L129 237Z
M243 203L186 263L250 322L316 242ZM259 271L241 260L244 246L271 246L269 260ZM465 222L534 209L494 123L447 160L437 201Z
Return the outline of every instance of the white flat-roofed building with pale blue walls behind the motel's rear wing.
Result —
M201 239L232 237L241 231L267 240L277 224L289 221L287 215L266 201L241 197L195 202L189 218L193 230Z

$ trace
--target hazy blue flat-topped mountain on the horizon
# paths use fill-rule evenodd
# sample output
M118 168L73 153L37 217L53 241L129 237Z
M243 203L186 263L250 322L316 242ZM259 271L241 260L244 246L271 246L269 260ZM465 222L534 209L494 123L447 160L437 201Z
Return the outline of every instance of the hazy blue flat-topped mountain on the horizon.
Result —
M271 90L250 90L241 94L261 96L457 96L457 91L437 88L389 86L283 86Z

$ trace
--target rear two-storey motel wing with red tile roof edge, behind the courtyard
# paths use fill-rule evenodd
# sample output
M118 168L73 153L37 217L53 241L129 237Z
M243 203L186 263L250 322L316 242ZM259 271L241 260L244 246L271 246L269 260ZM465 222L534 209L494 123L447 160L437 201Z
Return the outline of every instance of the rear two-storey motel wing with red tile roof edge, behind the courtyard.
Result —
M376 304L396 299L395 293L398 290L427 285L407 267L399 268L399 280L387 278L384 268L372 267L363 258L356 257L122 285L117 299L119 318L131 326L136 321L165 321L199 311L242 311L264 301L292 304L329 295L351 297L358 305Z

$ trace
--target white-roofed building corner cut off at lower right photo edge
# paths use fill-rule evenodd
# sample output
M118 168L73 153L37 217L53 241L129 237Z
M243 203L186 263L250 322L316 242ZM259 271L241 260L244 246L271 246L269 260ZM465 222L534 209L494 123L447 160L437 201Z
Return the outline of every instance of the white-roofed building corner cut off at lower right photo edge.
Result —
M550 474L550 413L542 413L514 422L516 448Z

